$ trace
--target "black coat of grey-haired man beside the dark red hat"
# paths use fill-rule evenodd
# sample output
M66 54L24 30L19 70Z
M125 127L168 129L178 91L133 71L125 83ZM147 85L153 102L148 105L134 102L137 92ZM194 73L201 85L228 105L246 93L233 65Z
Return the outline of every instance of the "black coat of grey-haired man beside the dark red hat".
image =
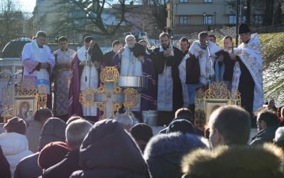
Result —
M81 170L79 164L79 150L74 150L69 152L65 159L63 159L58 164L55 164L53 167L50 167L45 170L43 173L43 178L53 178L53 177L60 177L60 178L69 178L72 172L77 170Z

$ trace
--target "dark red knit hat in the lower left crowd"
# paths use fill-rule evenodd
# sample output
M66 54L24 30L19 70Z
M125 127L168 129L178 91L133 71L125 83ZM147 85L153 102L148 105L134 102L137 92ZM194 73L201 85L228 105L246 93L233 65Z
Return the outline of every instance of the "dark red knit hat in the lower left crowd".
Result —
M38 165L43 169L48 169L58 162L61 162L69 152L65 142L50 142L43 147L38 156Z

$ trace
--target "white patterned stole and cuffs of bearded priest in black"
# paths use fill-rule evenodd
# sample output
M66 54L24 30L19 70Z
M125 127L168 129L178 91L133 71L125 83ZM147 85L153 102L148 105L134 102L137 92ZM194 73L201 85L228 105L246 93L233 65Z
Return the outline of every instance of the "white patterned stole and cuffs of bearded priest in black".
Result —
M163 47L160 46L160 52L163 52ZM170 56L174 56L173 46L170 46ZM173 110L173 76L172 67L161 63L165 68L163 73L158 75L158 100L157 110L172 111Z

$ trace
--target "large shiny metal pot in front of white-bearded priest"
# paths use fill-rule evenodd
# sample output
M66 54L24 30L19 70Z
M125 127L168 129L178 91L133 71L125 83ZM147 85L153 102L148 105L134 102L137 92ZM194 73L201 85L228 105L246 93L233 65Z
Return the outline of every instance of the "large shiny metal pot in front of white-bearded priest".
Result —
M119 75L117 85L121 88L135 88L141 93L147 89L148 76Z

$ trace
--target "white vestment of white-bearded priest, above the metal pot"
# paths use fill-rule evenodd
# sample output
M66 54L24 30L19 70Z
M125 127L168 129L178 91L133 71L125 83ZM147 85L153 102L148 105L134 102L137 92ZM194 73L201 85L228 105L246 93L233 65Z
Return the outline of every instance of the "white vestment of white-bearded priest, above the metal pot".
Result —
M143 76L143 66L141 61L133 56L129 47L125 47L121 57L120 75Z

